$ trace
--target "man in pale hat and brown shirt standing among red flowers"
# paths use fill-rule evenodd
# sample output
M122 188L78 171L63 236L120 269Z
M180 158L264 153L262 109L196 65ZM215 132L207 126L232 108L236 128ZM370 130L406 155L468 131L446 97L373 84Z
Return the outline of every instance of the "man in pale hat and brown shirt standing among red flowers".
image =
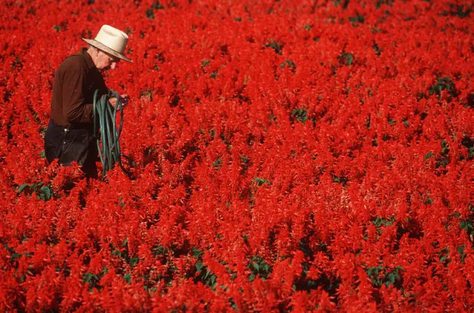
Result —
M102 72L114 70L123 55L128 36L123 31L103 25L95 39L82 38L88 48L68 56L54 73L51 119L45 135L48 162L59 159L62 165L75 161L89 178L97 178L98 150L93 137L93 96L108 92ZM109 100L114 106L116 99ZM122 95L126 105L128 95Z

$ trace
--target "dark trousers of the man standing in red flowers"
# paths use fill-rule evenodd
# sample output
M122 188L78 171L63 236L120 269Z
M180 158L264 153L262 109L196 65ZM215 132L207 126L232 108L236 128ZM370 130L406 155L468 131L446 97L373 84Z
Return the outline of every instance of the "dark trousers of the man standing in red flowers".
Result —
M97 144L91 124L70 125L65 128L49 120L45 135L47 162L59 159L59 164L69 166L76 161L89 178L98 178L95 162L99 160Z

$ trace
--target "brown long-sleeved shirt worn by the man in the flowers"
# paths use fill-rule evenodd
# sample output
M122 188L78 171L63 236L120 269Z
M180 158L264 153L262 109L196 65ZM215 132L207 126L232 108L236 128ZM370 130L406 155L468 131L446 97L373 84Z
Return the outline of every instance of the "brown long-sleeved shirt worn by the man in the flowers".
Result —
M92 57L82 48L68 56L54 73L51 118L61 126L93 122L93 96L107 93L104 77Z

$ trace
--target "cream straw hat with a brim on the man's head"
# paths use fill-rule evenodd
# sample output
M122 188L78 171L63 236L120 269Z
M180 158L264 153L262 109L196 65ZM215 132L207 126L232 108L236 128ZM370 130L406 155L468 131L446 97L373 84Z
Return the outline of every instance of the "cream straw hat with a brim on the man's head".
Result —
M103 25L94 39L82 39L84 39L86 43L89 43L89 45L93 45L104 52L112 54L122 60L132 62L132 60L123 55L128 42L128 35L120 29Z

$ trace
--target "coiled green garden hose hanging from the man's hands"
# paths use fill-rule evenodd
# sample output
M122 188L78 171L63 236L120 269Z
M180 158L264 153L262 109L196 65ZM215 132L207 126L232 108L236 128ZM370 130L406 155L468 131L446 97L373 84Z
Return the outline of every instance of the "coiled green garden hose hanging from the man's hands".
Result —
M97 99L97 94L98 90L95 91L93 98L94 137L97 138L97 149L103 166L102 178L117 162L123 172L130 176L132 172L123 167L121 160L122 157L126 158L131 166L135 166L133 160L120 151L119 137L123 127L123 105L119 93L114 89L109 89L99 99ZM109 102L111 98L117 99L114 107ZM116 125L117 112L120 113L119 128Z

